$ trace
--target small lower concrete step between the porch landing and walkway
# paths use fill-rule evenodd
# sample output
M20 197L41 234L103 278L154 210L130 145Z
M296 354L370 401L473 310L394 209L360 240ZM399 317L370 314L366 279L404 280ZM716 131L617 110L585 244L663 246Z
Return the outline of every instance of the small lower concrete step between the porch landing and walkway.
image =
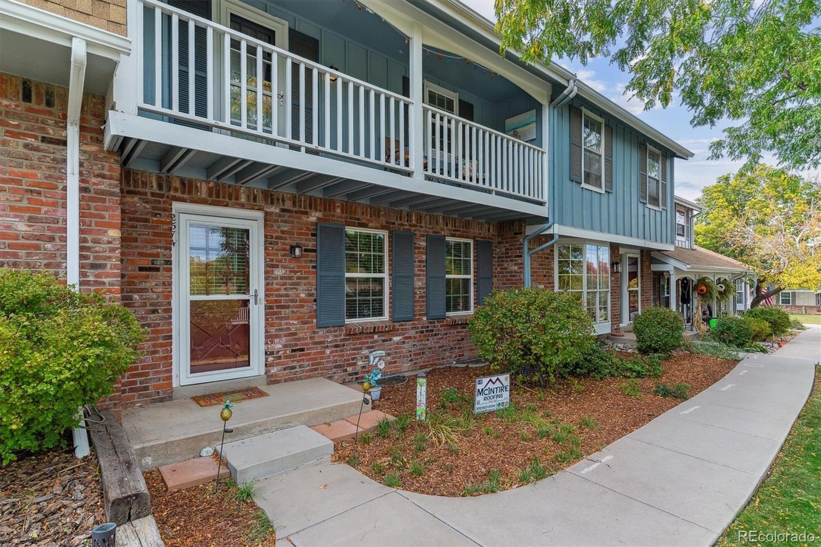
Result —
M308 426L296 426L235 440L223 447L222 454L234 481L242 485L330 458L333 440Z

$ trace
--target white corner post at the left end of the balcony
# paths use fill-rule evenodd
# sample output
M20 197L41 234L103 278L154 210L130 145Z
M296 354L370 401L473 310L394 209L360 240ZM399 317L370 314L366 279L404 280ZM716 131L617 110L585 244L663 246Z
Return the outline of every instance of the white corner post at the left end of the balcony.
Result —
M142 10L143 2L126 3L126 28L128 38L131 39L131 55L120 55L120 62L117 63L117 71L112 80L112 93L108 97L107 108L107 110L118 110L134 116L137 114L137 89L140 89L141 97L143 88L142 71L137 71L137 57L142 55L142 48L144 48L142 17L137 16L138 12L141 15Z

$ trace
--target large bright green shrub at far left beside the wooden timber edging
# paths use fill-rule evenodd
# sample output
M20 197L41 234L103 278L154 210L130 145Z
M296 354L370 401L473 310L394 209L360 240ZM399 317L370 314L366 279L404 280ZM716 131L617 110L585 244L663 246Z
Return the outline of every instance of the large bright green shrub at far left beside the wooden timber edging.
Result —
M65 443L77 408L111 394L143 333L102 296L48 274L0 268L0 457Z

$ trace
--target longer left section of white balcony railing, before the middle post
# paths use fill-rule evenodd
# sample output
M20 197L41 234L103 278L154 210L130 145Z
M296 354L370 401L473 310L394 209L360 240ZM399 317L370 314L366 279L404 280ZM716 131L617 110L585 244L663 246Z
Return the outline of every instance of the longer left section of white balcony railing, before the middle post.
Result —
M410 99L167 4L138 3L140 110L381 166L408 145ZM202 65L188 84L188 67ZM407 161L391 168L410 171Z

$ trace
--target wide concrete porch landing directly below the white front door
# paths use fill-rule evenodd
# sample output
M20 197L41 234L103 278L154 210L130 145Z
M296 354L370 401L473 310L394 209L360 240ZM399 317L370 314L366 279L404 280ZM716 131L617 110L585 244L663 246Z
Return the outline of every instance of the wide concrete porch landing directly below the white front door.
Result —
M263 385L268 397L234 404L227 443L292 426L334 422L359 412L362 394L325 378ZM152 403L122 411L122 426L140 467L150 469L195 458L222 438L220 407L191 399Z

